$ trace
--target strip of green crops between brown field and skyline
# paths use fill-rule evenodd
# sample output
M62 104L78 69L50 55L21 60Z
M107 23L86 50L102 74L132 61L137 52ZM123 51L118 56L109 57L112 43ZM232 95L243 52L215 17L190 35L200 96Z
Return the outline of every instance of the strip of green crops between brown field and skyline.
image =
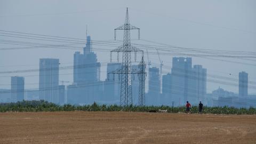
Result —
M149 110L167 110L167 113L186 113L185 107L169 106L117 106L117 105L56 105L47 101L20 101L16 103L0 103L0 112L20 111L20 112L38 112L38 111L139 111L148 112ZM198 113L198 107L191 108L191 113ZM256 108L234 108L234 107L204 107L203 114L226 114L226 115L255 115Z

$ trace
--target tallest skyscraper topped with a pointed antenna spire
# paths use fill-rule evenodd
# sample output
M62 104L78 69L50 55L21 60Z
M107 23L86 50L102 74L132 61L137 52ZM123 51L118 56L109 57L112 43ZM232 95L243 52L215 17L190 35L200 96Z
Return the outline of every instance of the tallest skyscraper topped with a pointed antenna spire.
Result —
M83 52L74 53L74 84L67 87L70 103L92 103L103 91L103 84L100 82L100 62L92 51L90 36L87 36Z

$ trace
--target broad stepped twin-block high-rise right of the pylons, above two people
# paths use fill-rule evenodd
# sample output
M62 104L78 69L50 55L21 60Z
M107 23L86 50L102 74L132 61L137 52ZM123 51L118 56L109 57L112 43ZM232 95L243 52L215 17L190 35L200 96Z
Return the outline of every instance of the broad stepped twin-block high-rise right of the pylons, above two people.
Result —
M171 74L171 101L181 106L186 101L198 103L206 95L206 69L201 65L192 68L191 58L173 58ZM204 102L204 101L203 101Z

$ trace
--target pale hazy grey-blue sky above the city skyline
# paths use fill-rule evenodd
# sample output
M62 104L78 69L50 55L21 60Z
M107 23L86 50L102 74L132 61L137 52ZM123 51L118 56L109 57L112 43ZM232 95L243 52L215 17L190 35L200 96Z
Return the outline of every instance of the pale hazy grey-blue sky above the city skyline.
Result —
M124 23L125 7L129 7L130 22L141 28L141 38L169 45L199 49L256 52L256 1L10 1L0 0L0 30L25 33L86 38L86 25L92 40L113 40L114 28ZM1 32L1 31L0 31ZM137 31L132 31L132 39ZM0 34L1 35L1 34ZM118 31L117 39L123 33ZM26 41L44 44L58 42L0 36L0 40ZM133 43L150 44L134 40ZM156 45L156 44L155 44ZM158 44L159 45L159 44ZM84 45L77 45L81 48ZM24 47L0 42L0 49ZM104 46L93 45L105 49ZM107 47L106 49L110 49ZM114 49L114 47L113 47ZM0 71L38 69L39 58L58 58L60 66L73 65L77 50L21 49L0 51ZM155 52L153 50L150 50ZM108 52L95 51L100 62L109 61ZM177 55L179 57L180 55ZM171 72L172 55L162 55L163 74ZM156 54L149 55L153 66L159 67ZM256 82L256 62L251 60L214 58L234 62L193 57L193 65L203 65L207 74L223 76L216 79L238 84L239 71L249 73ZM244 65L242 63L253 65ZM101 80L106 78L102 64ZM60 81L73 82L73 69L60 70ZM63 74L63 75L62 75ZM230 75L231 74L231 75ZM0 74L0 89L10 89L10 76L25 76L25 89L38 88L39 72ZM228 78L237 79L229 81ZM222 87L238 92L237 86L207 82L207 92ZM254 85L255 86L255 85ZM249 93L256 93L249 89Z

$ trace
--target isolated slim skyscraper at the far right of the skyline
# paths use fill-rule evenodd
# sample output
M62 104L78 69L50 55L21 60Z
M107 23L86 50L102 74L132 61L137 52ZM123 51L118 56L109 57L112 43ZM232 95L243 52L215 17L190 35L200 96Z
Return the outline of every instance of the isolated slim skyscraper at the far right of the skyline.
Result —
M248 74L245 71L239 73L239 97L248 95Z

